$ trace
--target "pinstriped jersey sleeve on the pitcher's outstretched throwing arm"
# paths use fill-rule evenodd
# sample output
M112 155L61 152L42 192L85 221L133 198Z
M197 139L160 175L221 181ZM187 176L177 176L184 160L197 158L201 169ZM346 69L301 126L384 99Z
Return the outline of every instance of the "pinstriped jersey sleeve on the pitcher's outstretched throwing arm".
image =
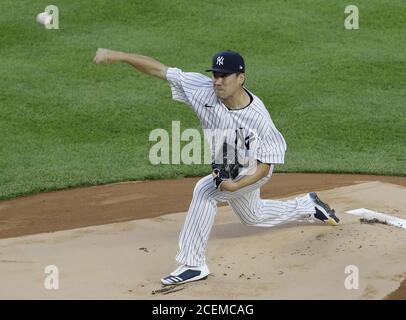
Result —
M196 72L183 72L168 68L166 79L172 91L173 100L192 105L193 96L199 88L211 87L211 79Z

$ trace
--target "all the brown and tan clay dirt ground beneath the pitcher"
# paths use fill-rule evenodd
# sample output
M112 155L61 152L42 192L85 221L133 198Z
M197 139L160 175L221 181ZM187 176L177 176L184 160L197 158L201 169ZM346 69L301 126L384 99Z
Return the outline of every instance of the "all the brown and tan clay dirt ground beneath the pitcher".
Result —
M57 244L60 246L58 248L60 252L70 252L72 256L79 257L82 254L87 254L86 248L90 245L88 241L91 241L93 245L97 245L97 242L100 241L100 245L105 247L106 252L109 251L109 243L112 246L111 249L115 248L116 251L120 252L120 243L124 241L121 246L123 254L131 255L132 246L134 256L143 253L152 257L156 254L156 258L159 260L163 257L160 253L163 250L168 250L168 256L166 257L165 254L165 259L161 260L166 262L166 268L150 270L152 273L157 272L157 275L147 275L148 268L145 270L140 269L142 273L145 273L146 277L151 277L151 279L148 278L143 281L141 277L138 279L139 283L135 284L138 280L136 281L134 278L133 284L143 285L142 288L146 289L145 292L141 290L139 294L135 294L136 289L128 288L126 292L130 294L129 296L123 296L122 292L121 294L110 295L112 284L102 281L102 284L105 284L106 293L92 296L90 291L88 295L84 294L82 298L154 299L156 296L162 298L165 293L160 290L165 289L159 287L159 277L164 275L162 273L171 271L168 268L174 266L173 256L177 250L177 234L188 209L194 185L198 180L199 178L186 178L118 183L55 191L0 201L0 248L2 251L0 254L0 280L10 278L7 273L12 272L12 270L14 271L14 281L29 277L30 272L27 270L27 266L35 265L39 261L45 263L45 260L47 260L47 250L51 249L42 247L45 243L51 246ZM406 256L405 241L396 243L396 240L406 240L404 237L406 230L386 225L363 225L359 223L358 218L344 213L345 210L355 209L356 207L369 207L370 209L381 210L381 212L405 218L406 209L404 208L406 206L403 205L406 199L405 187L405 177L275 173L261 189L262 198L289 198L309 191L317 191L319 195L327 199L336 208L336 211L338 208L339 215L342 217L342 226L333 228L334 231L332 231L332 227L328 226L304 226L300 224L278 228L249 228L239 224L238 220L233 216L232 210L228 206L222 205L219 208L218 217L216 217L216 224L208 248L208 252L211 252L211 254L208 253L208 260L210 259L209 261L212 261L212 264L215 262L215 266L211 268L214 275L209 276L208 280L189 284L186 288L178 287L171 294L165 294L164 297L182 299L182 292L188 290L186 296L199 298L200 292L204 298L211 289L211 285L208 283L214 281L217 282L214 284L215 286L220 285L221 287L224 284L223 287L227 287L228 277L230 278L228 285L237 285L237 287L234 287L234 292L240 290L240 294L235 297L237 299L317 299L323 297L333 299L406 299L406 283L404 282L406 267L404 264L402 270L402 261L405 260ZM403 198L403 194L405 198ZM106 238L103 238L111 237L112 226L116 226L114 228L121 230L121 236L127 234L127 241L117 238L110 239L109 242ZM160 228L163 227L164 229L161 230ZM116 229L113 232L114 234L117 233ZM148 230L148 232L146 233L145 230ZM102 237L101 234L104 232L105 235ZM153 236L154 232L163 237ZM166 234L165 232L169 233ZM68 233L76 236L67 236ZM134 233L137 234L134 235ZM304 237L304 235L307 236ZM151 239L148 239L148 237L151 237ZM73 242L79 241L78 238L81 238L81 241L84 242L75 247ZM230 240L232 240L232 244L229 243ZM65 241L66 243L64 243ZM160 241L165 242L165 244ZM269 241L270 245L255 245L258 241L261 243ZM381 244L380 241L386 243ZM391 246L392 241L393 246ZM144 245L139 246L140 243ZM332 256L331 252L323 244L328 245L329 250L337 253L337 257ZM168 245L167 248L166 245ZM223 248L226 245L230 246L228 250ZM315 252L316 247L319 252ZM387 247L391 248L391 250L385 249ZM78 248L76 250L78 252L71 252L75 248ZM128 253L126 253L126 248L128 248ZM213 248L217 249L211 251ZM90 248L87 249L90 250ZM213 253L222 252L224 249L226 250L222 255L213 255ZM80 250L84 250L84 252L79 252ZM270 253L271 251L274 252ZM33 255L33 252L37 252L38 256ZM383 270L379 273L379 268L375 269L373 263L368 266L368 259L371 261L385 259L385 253L389 255L386 256L388 264L385 264L387 273ZM376 256L377 254L381 254L381 256ZM52 255L54 256L54 254ZM272 271L256 264L256 267L249 268L255 262L255 259L257 261L261 260L261 258L265 259L265 255L267 256L267 263L272 266ZM314 272L318 271L321 274L325 272L326 262L330 261L341 268L345 264L350 264L350 261L347 261L351 260L347 259L349 257L352 257L354 261L358 259L359 265L365 264L363 268L368 273L365 279L371 278L371 281L367 281L368 283L362 288L362 293L358 295L351 294L347 297L346 292L342 291L340 294L323 296L322 290L325 288L320 287L318 292L317 286L314 288L315 292L308 295L306 290L309 290L309 288L304 288L304 291L301 292L302 290L298 288L284 287L280 282L283 276L294 282L295 277L303 276L303 274L307 274L308 281L311 281L313 277L320 276L320 274L313 274ZM310 260L308 260L309 258ZM324 259L325 262L315 263L314 259L316 258ZM55 259L59 259L60 263L69 265L65 261L65 256ZM94 259L103 260L102 252L99 252L99 255L95 256ZM128 259L132 261L131 258ZM120 260L120 255L117 256L117 260ZM152 260L150 263L154 263ZM147 261L144 262L147 263ZM246 265L246 268L241 268L239 272L236 270L236 264ZM17 268L13 268L15 266ZM19 277L18 273L15 272L18 272L19 268L24 266L25 268L21 270L21 277ZM310 266L313 269L309 269ZM83 269L79 268L76 271L86 272L86 268L88 266ZM140 267L133 266L134 270L137 268ZM215 272L213 272L213 269ZM256 272L249 274L247 270L256 270ZM122 270L122 272L126 271ZM102 276L104 271L100 272L100 276ZM111 272L114 274L114 270L111 270ZM123 282L123 285L131 282L129 280L131 279L131 267L128 273L128 281ZM344 276L343 273L343 279ZM378 280L372 279L373 277ZM231 280L231 278L234 280ZM263 283L265 279L266 283ZM38 281L38 279L36 280ZM242 280L245 280L245 283ZM21 294L17 289L5 290L7 286L4 285L7 285L7 283L12 286L9 281L3 281L2 290L0 290L0 298L2 299L69 299L72 297L70 294L74 295L76 290L72 287L67 290L66 296L47 297L44 292L39 294L30 287L24 291L25 294ZM249 282L256 282L254 286L256 291L252 290L252 285ZM331 280L330 285L337 285L337 283ZM268 287L273 287L272 291L276 293L269 294ZM197 290L197 288L200 288L200 290ZM103 286L99 289L103 289ZM291 293L292 290L295 290L296 293ZM131 295L131 293L134 294ZM214 294L220 299L223 295L219 288L214 291Z

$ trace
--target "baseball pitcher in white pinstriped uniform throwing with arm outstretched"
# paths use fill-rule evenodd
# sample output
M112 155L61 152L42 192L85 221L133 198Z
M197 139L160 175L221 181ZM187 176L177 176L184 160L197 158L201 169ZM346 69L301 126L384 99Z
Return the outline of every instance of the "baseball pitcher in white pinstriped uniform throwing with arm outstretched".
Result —
M203 130L226 132L220 138L215 135L215 144L220 147L212 147L212 173L194 188L179 236L179 267L161 279L164 285L209 275L205 249L219 202L228 202L241 222L249 226L272 227L302 220L338 224L334 210L314 192L287 201L260 198L260 188L270 179L274 166L284 163L286 142L261 99L244 86L245 63L239 53L228 50L215 54L206 70L211 77L108 49L98 49L93 62L125 62L167 81L173 99L193 109ZM244 154L253 161L242 161Z

